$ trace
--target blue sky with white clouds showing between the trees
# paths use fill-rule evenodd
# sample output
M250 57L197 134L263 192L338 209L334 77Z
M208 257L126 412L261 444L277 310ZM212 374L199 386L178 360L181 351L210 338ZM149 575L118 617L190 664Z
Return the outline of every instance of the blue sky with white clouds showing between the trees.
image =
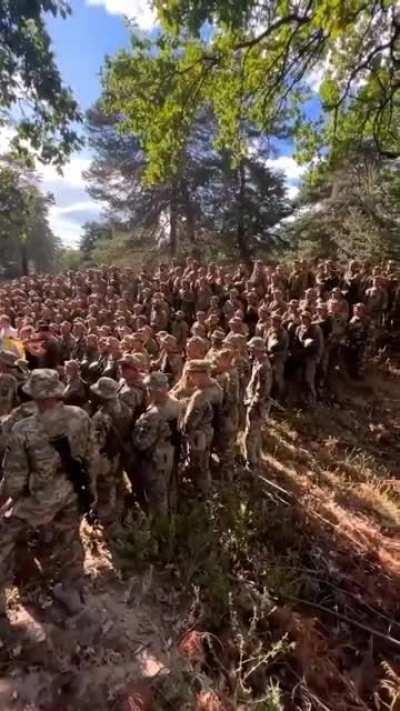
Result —
M70 4L72 16L66 20L49 17L48 27L64 81L84 111L100 94L104 57L129 45L126 16L143 30L150 30L155 18L148 0L70 0ZM51 226L66 245L78 245L82 225L101 213L101 205L85 190L82 172L89 163L90 153L84 148L72 157L63 176L49 166L39 171L43 189L52 192L56 201L51 208ZM271 164L285 172L294 194L304 168L294 162L287 146Z

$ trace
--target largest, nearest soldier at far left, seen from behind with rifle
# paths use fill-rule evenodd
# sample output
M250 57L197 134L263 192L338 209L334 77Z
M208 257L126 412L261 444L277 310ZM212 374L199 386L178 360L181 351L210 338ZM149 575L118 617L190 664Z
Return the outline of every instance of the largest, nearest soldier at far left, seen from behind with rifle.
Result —
M83 551L79 526L94 500L88 472L95 461L90 418L62 403L57 372L38 369L24 386L37 411L11 430L3 461L0 496L8 501L0 518L0 613L7 629L5 586L14 572L17 541L30 528L51 530L60 544L53 593L71 614L79 612ZM54 575L56 571L52 571Z

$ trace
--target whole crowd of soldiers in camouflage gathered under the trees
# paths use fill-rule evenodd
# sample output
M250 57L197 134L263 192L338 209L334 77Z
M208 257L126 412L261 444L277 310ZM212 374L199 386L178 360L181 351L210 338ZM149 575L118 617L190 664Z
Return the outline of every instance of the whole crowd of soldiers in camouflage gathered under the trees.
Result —
M271 402L314 407L344 370L359 378L378 334L400 325L396 265L255 262L29 276L0 288L0 614L16 542L63 540L54 594L79 609L82 514L102 524L134 499L154 515L256 471ZM272 397L274 400L272 400ZM74 581L74 582L72 582ZM1 630L0 630L1 631Z

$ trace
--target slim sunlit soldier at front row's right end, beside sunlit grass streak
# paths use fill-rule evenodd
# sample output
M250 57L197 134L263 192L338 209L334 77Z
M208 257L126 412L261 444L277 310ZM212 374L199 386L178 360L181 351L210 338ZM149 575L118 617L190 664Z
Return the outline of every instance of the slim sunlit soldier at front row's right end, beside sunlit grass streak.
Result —
M269 415L272 372L267 349L262 338L254 336L248 343L252 369L246 389L246 425L244 457L248 469L259 465L262 449L262 426Z

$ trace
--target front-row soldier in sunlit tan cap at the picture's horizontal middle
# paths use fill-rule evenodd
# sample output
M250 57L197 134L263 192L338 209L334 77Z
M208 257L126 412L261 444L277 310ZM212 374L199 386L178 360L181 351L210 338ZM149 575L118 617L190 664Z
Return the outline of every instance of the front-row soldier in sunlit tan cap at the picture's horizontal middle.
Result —
M210 456L214 424L220 421L223 392L210 377L206 360L191 360L186 373L194 393L188 401L182 420L182 432L187 438L187 468L200 491L207 495L211 486Z

